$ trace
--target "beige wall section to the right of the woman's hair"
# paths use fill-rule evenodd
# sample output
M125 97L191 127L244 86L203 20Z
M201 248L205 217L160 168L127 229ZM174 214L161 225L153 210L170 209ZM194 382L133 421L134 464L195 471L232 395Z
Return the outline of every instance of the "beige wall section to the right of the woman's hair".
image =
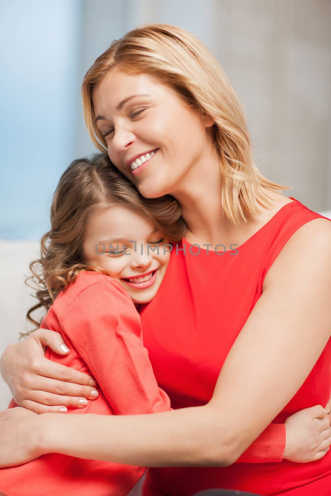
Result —
M212 5L210 49L244 102L259 168L313 210L331 208L330 0Z

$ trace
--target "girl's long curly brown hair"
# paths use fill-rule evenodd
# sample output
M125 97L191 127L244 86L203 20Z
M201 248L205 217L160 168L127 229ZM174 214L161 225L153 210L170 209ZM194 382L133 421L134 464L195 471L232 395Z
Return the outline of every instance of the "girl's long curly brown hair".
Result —
M38 327L40 322L31 317L31 312L40 307L48 310L80 271L106 274L102 268L84 263L82 246L91 214L115 205L145 214L171 242L180 241L185 234L186 224L175 198L144 198L103 153L90 160L74 160L60 178L51 206L51 229L41 240L41 256L30 263L32 275L26 280L34 284L30 287L36 290L39 300L27 318Z

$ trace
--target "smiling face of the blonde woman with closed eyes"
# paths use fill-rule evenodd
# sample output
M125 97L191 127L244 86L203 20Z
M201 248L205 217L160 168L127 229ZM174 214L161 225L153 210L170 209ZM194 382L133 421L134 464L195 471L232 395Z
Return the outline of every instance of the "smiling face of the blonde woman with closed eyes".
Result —
M210 173L206 127L212 123L156 78L110 70L93 89L93 107L109 158L146 198L191 191L192 177L205 177L197 169L201 157ZM157 151L165 160L155 162ZM218 162L215 170L218 176Z

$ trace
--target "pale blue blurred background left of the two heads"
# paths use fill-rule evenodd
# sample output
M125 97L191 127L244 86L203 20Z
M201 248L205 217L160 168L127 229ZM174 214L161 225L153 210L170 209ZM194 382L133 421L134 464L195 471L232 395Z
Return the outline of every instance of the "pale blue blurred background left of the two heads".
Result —
M2 0L0 238L39 239L76 158L79 0Z

